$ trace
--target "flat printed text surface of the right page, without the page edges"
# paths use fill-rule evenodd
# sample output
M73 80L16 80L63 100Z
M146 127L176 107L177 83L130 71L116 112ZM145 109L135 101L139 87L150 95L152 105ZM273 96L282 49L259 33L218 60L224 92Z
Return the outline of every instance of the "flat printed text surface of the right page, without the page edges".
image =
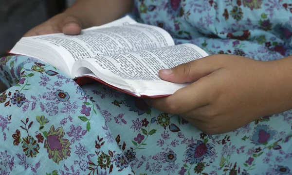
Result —
M161 80L158 75L160 69L172 68L207 55L205 51L195 45L182 44L100 56L96 57L92 64L123 79L151 81Z

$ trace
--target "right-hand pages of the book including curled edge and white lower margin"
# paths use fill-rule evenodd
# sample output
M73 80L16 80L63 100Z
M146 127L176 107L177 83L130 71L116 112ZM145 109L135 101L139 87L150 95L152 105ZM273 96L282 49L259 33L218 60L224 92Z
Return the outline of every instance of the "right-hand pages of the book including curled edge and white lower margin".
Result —
M167 91L171 94L185 85L160 79L158 71L200 59L207 55L205 51L193 44L182 44L111 56L99 56L77 61L73 65L73 71L77 74L72 76L81 77L90 73L90 70L101 80L113 86L127 82L124 86L128 86L127 88L131 90L135 89L134 93L143 93L144 90L151 91L151 88L154 87L153 92L157 89L163 90L162 92L157 92L156 95L167 94ZM153 86L153 84L155 85Z

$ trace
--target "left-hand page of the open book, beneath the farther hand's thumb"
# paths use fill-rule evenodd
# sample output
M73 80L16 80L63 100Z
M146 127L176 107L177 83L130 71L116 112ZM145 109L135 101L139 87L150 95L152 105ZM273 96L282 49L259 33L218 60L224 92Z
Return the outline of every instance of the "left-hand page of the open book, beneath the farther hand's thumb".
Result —
M80 35L50 34L22 41L53 48L69 67L80 59L174 45L169 33L159 27L125 21L122 24L94 27Z

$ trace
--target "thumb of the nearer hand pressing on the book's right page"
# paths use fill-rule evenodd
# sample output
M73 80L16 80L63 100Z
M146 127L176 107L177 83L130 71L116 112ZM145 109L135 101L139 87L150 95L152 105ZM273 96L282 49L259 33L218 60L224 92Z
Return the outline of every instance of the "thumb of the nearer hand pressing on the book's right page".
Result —
M159 71L159 76L163 80L175 83L193 82L221 68L222 64L217 60L219 59L208 56L171 69L162 69Z

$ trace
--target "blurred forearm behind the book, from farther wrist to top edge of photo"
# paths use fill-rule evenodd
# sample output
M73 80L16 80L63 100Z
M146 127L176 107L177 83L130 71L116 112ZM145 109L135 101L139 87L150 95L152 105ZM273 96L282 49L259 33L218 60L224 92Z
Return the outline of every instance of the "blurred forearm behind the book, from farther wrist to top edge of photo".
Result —
M77 17L82 27L99 26L128 13L133 0L77 0L64 13Z

